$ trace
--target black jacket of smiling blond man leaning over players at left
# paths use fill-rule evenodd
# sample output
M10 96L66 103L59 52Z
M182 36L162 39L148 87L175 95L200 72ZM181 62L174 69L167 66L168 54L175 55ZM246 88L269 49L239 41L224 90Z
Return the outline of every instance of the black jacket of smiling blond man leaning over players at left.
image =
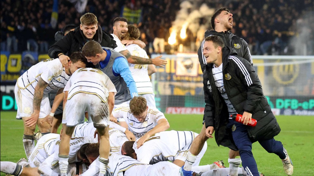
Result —
M59 53L68 54L70 56L73 52L82 51L84 44L87 42L82 30L77 27L74 31L70 31L62 39L51 45L48 51L50 58L58 58ZM106 31L101 30L98 25L94 40L100 43L102 47L116 48L116 41L112 35Z

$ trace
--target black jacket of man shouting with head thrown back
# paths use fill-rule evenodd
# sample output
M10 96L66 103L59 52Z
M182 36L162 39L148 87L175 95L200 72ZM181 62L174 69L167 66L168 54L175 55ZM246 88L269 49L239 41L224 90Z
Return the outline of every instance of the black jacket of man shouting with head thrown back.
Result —
M210 30L205 32L205 38L209 35L217 35L223 41L225 46L231 47L233 50L236 51L237 55L244 58L245 60L249 61L251 65L253 65L252 56L246 41L236 35L233 35L230 31L225 32L217 32L215 30ZM198 60L201 64L202 71L204 72L206 66L206 59L203 55L203 45L205 40L203 40L201 46L198 49Z

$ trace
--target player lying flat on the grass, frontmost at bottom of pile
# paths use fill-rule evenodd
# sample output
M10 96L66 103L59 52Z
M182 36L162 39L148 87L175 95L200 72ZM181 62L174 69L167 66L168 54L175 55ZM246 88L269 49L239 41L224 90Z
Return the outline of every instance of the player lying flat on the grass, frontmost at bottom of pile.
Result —
M89 153L85 153L86 157L89 159L89 162L92 162L89 166L89 169L79 176L96 176L98 175L98 156L97 153L99 150L99 145L90 145ZM92 149L94 148L94 149ZM93 151L93 152L90 152ZM156 164L144 164L136 159L130 158L128 156L119 155L116 153L109 154L109 164L108 164L108 173L111 176L181 176L180 167L176 164L173 164L168 161L161 161ZM202 173L202 176L227 176L229 168L223 168L222 162L215 162L212 168L214 170L207 170L205 173ZM218 169L217 169L218 168ZM220 170L222 169L222 170ZM196 171L198 173L198 171ZM217 174L216 174L217 173ZM219 173L219 175L218 175ZM245 176L246 172L243 171L243 168L239 168L239 176Z

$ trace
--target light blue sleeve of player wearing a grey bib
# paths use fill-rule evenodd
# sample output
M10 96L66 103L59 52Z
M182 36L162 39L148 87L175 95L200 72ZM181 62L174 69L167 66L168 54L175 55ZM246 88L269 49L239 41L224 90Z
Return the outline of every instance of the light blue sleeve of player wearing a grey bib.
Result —
M127 87L130 90L131 97L133 98L134 96L138 96L136 84L133 79L127 60L123 57L116 58L115 61L113 62L112 70L114 72L114 75L116 74L121 75L121 77L127 83Z

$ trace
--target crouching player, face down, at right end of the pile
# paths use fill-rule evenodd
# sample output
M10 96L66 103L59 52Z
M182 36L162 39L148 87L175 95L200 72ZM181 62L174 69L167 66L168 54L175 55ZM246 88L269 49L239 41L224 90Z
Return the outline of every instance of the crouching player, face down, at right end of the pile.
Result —
M121 154L130 156L145 164L154 164L159 161L173 161L178 166L183 166L186 154L193 139L198 133L192 131L165 131L151 136L140 148L137 148L137 141L127 141L121 147ZM193 166L198 166L201 158L207 149L207 143L203 145L201 152L196 157ZM162 154L156 161L153 157Z

